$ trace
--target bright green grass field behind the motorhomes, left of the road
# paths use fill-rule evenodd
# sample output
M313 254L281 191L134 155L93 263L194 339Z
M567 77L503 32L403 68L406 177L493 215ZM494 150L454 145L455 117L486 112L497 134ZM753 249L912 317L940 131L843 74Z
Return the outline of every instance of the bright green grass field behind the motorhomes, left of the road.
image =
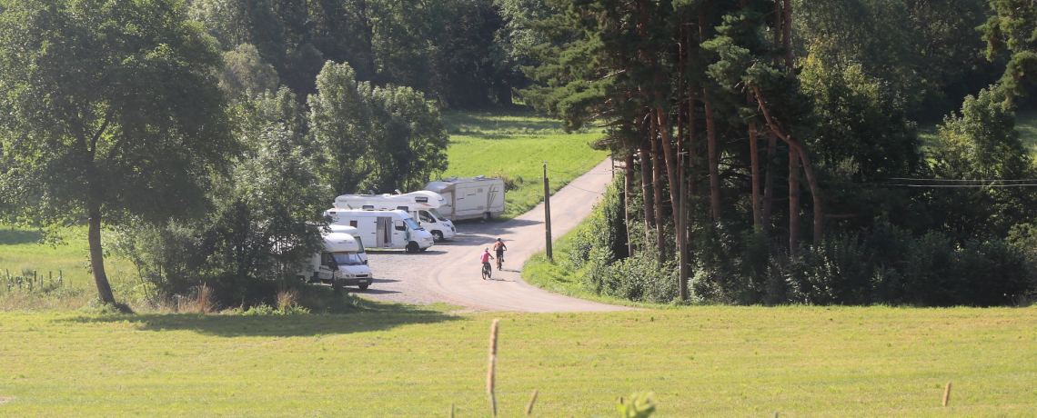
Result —
M443 177L507 177L516 189L505 193L504 218L526 213L543 200L543 165L552 192L605 160L607 151L589 144L601 138L599 129L572 135L561 122L529 111L444 114L450 147L450 167Z

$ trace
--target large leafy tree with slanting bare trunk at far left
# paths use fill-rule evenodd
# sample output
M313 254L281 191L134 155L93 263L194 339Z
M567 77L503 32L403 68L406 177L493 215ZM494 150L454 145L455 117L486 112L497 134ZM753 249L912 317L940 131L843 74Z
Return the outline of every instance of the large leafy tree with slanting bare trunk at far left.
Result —
M4 198L36 221L89 217L106 302L103 219L201 215L209 175L239 152L219 52L184 18L167 0L0 3Z

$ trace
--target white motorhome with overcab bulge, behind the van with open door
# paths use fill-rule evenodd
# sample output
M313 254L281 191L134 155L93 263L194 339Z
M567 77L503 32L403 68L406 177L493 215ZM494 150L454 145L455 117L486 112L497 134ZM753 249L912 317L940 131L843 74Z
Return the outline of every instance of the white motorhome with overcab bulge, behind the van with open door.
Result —
M418 225L424 228L432 239L442 241L451 239L457 234L457 229L437 210L446 203L440 193L428 190L418 190L402 195L342 195L335 198L335 207L340 209L363 210L394 210L399 209L418 219Z

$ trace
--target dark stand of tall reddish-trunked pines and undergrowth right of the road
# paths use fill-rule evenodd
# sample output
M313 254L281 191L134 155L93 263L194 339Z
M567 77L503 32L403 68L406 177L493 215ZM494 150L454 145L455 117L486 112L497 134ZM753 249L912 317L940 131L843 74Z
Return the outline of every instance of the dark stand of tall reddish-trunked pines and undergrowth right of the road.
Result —
M654 302L1028 298L1037 173L1014 109L1037 6L988 5L567 3L533 26L524 98L597 121L626 168L568 263ZM962 92L923 144L917 120Z

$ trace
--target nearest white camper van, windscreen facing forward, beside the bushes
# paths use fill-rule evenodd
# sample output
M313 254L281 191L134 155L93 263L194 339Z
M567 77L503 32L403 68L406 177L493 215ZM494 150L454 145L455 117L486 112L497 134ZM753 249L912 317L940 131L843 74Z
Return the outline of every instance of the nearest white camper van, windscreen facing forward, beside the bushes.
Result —
M301 279L367 289L374 279L367 267L367 256L361 259L364 246L349 234L333 232L325 234L324 249L313 255L308 271L299 273Z

